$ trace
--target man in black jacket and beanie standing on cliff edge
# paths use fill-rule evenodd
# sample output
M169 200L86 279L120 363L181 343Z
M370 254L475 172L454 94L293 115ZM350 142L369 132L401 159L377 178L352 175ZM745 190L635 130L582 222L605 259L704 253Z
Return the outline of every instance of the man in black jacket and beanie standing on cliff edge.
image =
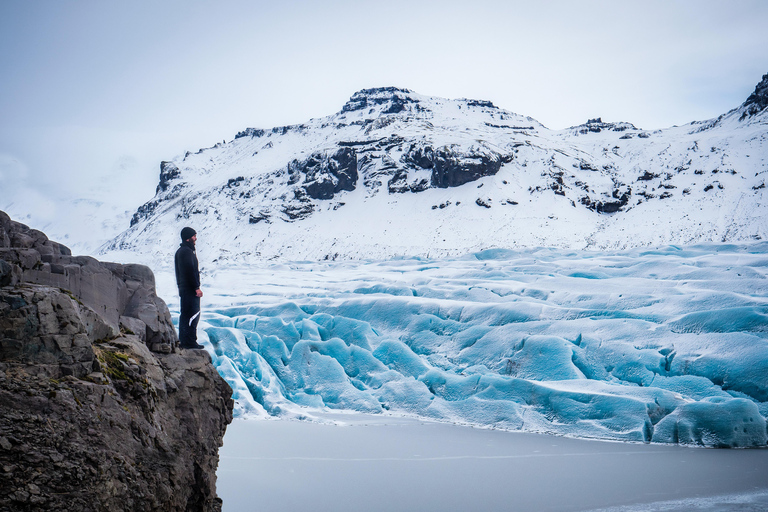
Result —
M176 251L176 284L179 286L181 315L179 316L179 344L181 348L203 348L197 342L197 322L200 320L200 270L195 254L197 233L192 228L181 230L181 246Z

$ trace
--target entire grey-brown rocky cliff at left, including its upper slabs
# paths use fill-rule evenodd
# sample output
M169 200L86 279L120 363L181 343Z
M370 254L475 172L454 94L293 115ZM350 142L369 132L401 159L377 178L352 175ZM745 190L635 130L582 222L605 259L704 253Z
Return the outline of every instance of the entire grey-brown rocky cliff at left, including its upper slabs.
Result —
M0 212L0 511L220 510L231 394L147 267Z

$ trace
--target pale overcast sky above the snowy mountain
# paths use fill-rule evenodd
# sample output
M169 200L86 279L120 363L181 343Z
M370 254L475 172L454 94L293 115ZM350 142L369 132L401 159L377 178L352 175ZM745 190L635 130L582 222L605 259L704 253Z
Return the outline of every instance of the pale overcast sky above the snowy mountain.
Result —
M0 209L50 219L93 190L135 207L160 160L369 87L553 129L708 119L768 73L766 27L762 0L0 0Z

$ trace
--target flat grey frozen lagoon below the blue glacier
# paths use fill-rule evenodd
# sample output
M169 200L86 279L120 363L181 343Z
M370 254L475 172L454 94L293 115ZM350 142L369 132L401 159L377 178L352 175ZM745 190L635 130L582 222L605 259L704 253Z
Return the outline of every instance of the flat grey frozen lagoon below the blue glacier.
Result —
M224 512L764 511L768 451L588 441L343 415L235 420Z

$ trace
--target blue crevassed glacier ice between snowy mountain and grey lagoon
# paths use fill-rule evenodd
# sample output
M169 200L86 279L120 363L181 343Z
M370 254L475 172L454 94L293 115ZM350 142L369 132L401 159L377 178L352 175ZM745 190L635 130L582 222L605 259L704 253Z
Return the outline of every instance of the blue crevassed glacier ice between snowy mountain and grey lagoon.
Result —
M219 267L200 337L243 417L764 446L767 275L765 242Z

